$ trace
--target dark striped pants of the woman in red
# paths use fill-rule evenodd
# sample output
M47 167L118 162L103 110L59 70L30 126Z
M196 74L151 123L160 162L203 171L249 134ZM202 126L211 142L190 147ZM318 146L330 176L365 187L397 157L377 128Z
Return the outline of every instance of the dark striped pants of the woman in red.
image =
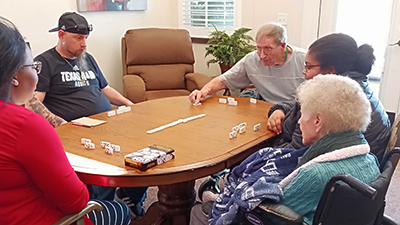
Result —
M91 211L86 216L94 225L128 225L131 214L128 206L116 201L91 200L103 206L102 211Z

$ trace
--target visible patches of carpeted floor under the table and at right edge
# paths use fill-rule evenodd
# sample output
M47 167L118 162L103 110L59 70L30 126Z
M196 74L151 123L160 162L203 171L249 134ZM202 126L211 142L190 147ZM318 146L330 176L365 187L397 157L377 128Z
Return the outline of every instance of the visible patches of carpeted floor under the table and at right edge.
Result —
M208 179L208 177L201 178L196 181L196 190L198 190L200 184L205 179ZM223 183L223 181L221 183ZM149 188L149 190L147 191L146 201L144 202L145 209L147 209L151 203L157 201L157 191L157 187ZM397 192L400 192L400 164L397 166L396 171L393 174L392 181L386 195L387 204L385 210L385 214L389 215L400 223L400 195Z

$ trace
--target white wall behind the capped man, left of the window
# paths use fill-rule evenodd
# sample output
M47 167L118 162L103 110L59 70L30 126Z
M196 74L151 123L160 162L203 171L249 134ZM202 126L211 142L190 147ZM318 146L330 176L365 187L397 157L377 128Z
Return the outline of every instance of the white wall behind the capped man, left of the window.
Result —
M77 11L76 0L0 0L0 15L11 20L30 41L33 55L57 43L58 18ZM110 86L122 93L121 37L130 28L177 27L176 0L148 0L146 11L85 12L93 24L88 51L95 57Z

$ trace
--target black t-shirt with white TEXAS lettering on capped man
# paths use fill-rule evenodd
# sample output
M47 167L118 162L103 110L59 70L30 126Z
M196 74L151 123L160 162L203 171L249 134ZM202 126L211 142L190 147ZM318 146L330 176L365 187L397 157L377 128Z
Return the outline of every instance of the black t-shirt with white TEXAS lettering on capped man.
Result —
M55 48L38 55L35 61L42 62L36 91L46 92L43 104L52 113L71 121L111 110L101 90L108 83L89 53L86 72L79 70L75 59L64 59Z

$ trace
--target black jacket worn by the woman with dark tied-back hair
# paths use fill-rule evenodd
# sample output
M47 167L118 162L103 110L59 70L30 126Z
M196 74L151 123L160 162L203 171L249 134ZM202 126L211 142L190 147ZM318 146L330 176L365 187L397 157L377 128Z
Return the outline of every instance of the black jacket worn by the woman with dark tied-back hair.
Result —
M371 103L371 123L364 132L364 136L371 147L371 152L374 153L380 161L391 133L388 115L378 97L369 87L366 75L358 72L349 72L345 73L343 76L350 77L357 81ZM282 133L278 137L276 147L295 149L304 147L300 126L298 124L301 116L300 105L297 102L275 104L270 109L268 116L276 109L281 109L285 113L285 119L282 122Z

